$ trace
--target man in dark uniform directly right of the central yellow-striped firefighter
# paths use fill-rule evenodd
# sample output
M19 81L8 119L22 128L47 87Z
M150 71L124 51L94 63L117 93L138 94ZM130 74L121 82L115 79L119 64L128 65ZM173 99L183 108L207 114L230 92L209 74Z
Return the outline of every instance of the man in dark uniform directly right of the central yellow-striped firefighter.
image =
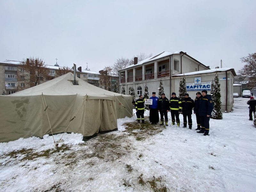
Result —
M188 93L185 93L185 98L181 100L181 105L182 105L182 115L183 115L183 124L184 128L187 127L192 129L192 108L195 107L195 102L193 99L191 99L188 95ZM187 117L188 117L188 122L187 122Z

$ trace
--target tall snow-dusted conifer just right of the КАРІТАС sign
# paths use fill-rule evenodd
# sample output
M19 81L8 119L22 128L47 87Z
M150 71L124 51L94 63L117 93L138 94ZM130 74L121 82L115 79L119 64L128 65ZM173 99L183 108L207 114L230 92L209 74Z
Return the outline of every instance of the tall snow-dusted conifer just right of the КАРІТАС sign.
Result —
M221 110L221 94L220 94L220 82L218 74L215 75L214 81L211 84L211 95L213 102L213 111L212 117L213 119L222 119L222 110Z

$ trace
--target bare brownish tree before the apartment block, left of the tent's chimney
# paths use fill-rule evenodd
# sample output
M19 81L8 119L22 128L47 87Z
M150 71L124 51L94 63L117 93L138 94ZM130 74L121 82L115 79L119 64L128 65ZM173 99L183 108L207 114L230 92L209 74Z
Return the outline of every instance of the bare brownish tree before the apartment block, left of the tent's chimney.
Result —
M17 78L22 84L27 84L26 88L34 87L37 84L44 83L44 78L50 75L50 71L44 64L44 60L38 57L29 57L20 61L20 71L17 71ZM18 87L25 89L21 84Z

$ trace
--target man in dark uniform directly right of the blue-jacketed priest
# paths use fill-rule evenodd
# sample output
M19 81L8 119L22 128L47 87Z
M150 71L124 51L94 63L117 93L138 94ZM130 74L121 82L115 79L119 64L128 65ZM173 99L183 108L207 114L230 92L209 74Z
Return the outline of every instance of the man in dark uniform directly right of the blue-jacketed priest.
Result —
M164 124L165 118L165 125L168 126L168 116L167 113L169 112L169 100L165 97L165 94L162 93L161 98L159 98L157 103L158 112L160 112L161 124Z

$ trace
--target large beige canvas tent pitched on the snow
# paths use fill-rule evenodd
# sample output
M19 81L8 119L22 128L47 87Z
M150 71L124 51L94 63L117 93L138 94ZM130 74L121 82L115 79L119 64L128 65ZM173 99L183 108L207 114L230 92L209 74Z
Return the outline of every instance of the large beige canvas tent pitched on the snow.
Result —
M79 78L79 85L73 85L73 80L70 72L35 87L1 95L0 142L64 132L69 123L66 132L92 136L116 129L117 118L131 117L132 96L106 91ZM76 117L70 122L74 114Z

